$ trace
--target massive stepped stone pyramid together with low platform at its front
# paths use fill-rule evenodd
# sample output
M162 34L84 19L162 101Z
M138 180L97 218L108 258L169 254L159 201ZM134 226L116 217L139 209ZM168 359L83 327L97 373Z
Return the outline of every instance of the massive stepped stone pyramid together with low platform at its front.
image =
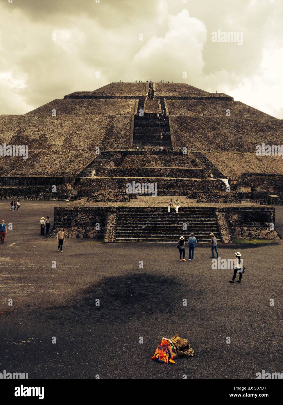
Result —
M276 239L268 204L269 194L283 198L283 160L255 151L281 145L282 130L282 120L227 94L182 83L110 83L0 116L2 145L29 147L26 160L0 157L0 198L55 200L55 228L69 237ZM145 188L128 193L128 184ZM170 197L181 202L178 214L168 213Z

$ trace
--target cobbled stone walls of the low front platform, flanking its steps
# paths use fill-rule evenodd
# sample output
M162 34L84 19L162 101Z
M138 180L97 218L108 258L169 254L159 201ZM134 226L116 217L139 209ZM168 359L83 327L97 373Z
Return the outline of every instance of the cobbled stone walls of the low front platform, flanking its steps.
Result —
M54 208L56 230L62 227L68 232L70 238L104 238L105 242L115 242L116 218L119 215L119 207L94 207L84 201L78 202L78 206L72 204ZM125 207L126 205L123 205L123 211L125 211ZM209 205L206 207L209 207ZM144 207L144 209L148 208ZM278 232L274 229L274 207L219 205L219 207L213 206L213 209L222 243L231 243L233 238L280 238ZM177 216L176 221L178 221ZM197 237L197 235L195 236Z

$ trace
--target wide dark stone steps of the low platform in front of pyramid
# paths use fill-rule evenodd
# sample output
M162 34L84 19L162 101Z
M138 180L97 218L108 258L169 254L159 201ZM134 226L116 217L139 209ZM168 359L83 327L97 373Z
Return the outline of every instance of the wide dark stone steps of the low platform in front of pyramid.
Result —
M151 197L148 197L151 198ZM168 198L169 200L169 198ZM183 230L187 224L187 230ZM213 232L221 243L216 213L211 207L181 207L178 214L167 207L119 207L116 242L186 241L193 232L198 243L209 243Z

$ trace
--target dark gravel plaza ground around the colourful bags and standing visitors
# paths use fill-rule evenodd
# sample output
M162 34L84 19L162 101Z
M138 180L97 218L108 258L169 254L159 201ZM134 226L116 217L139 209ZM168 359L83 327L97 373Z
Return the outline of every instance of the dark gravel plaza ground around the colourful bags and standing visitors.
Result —
M179 262L176 245L164 243L66 239L60 253L39 226L60 204L22 201L12 212L0 201L1 219L13 224L0 245L0 372L125 379L282 371L282 240L219 245L221 258L243 256L242 283L231 284L233 271L212 270L208 245L196 247L193 262ZM283 207L276 213L283 235ZM161 337L175 333L189 339L195 356L174 365L150 361Z

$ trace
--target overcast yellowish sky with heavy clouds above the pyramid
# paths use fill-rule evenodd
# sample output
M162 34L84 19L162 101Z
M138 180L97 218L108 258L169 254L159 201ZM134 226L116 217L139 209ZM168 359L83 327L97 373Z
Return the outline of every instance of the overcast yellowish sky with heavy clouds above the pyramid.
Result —
M283 119L282 0L9 1L0 0L0 114L162 79ZM213 42L218 30L239 41Z

